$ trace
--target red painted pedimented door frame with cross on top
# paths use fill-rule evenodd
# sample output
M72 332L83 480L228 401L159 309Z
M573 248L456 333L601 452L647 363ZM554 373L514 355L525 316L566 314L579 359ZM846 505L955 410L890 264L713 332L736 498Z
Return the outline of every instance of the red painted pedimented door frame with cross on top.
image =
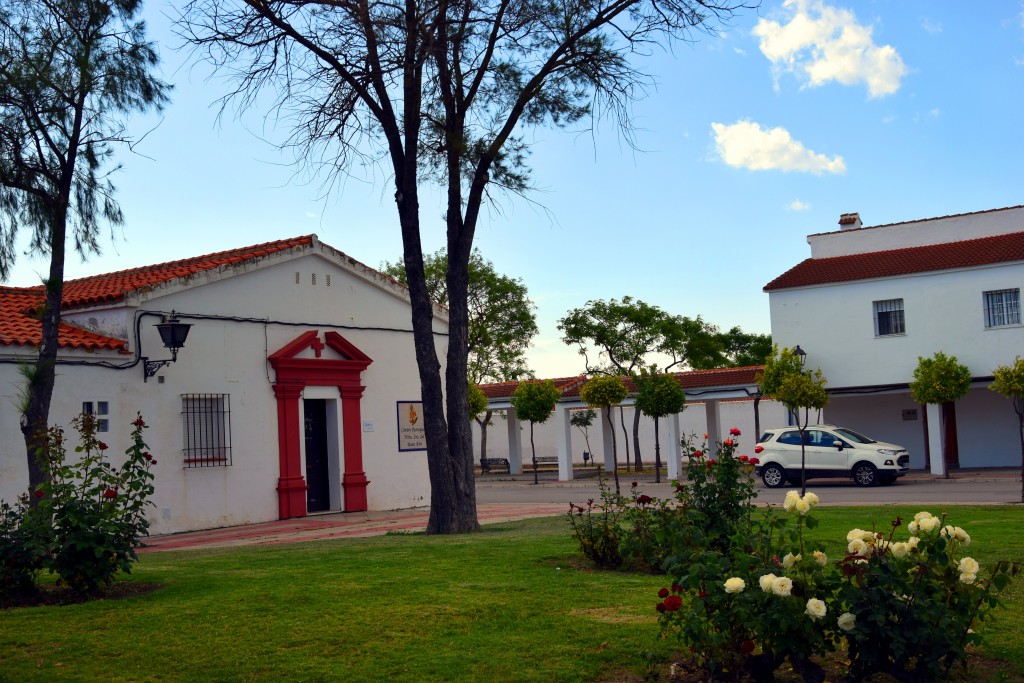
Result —
M325 348L341 358L324 358ZM314 357L296 357L312 349ZM307 386L335 386L341 395L341 433L345 450L345 474L341 479L345 512L367 509L367 473L362 470L362 417L359 399L366 389L360 377L373 360L337 332L319 331L299 335L268 356L276 375L273 395L278 399L278 508L281 519L306 516L306 481L302 477L299 399Z

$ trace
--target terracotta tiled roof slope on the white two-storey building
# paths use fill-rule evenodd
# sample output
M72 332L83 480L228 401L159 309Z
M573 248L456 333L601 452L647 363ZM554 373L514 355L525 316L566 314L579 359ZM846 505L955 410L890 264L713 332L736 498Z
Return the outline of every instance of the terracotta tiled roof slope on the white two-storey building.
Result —
M764 291L894 278L1010 261L1024 261L1024 232L866 254L809 258L765 285Z

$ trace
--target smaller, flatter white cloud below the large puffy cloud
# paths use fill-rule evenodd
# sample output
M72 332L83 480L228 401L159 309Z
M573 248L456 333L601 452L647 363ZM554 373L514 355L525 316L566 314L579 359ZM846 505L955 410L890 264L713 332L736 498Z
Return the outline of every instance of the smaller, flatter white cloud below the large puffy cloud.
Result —
M811 152L793 139L784 128L762 128L753 121L732 125L713 123L718 154L729 166L752 171L803 171L805 173L846 173L842 157L829 159Z

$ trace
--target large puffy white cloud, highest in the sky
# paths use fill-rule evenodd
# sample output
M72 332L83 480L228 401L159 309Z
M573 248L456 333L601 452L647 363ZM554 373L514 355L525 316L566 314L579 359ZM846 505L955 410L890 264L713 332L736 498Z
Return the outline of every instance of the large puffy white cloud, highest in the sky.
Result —
M892 45L876 45L871 27L857 24L852 11L823 0L785 0L782 6L791 14L786 24L762 18L754 28L776 79L791 72L803 74L810 87L864 83L871 97L899 90L903 59Z

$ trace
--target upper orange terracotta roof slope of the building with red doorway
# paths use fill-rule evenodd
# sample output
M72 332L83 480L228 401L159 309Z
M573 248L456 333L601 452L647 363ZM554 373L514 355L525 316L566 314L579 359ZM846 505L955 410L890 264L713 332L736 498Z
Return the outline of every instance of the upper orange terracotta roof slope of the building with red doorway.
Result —
M205 256L195 256L179 261L146 265L130 270L119 270L118 272L109 272L101 275L69 280L65 283L63 304L67 308L76 308L121 301L128 292L143 287L153 287L154 285L170 282L177 278L185 278L204 270L212 270L250 259L270 256L278 252L309 244L312 244L311 234L267 242L252 247L243 247L242 249L232 249Z

